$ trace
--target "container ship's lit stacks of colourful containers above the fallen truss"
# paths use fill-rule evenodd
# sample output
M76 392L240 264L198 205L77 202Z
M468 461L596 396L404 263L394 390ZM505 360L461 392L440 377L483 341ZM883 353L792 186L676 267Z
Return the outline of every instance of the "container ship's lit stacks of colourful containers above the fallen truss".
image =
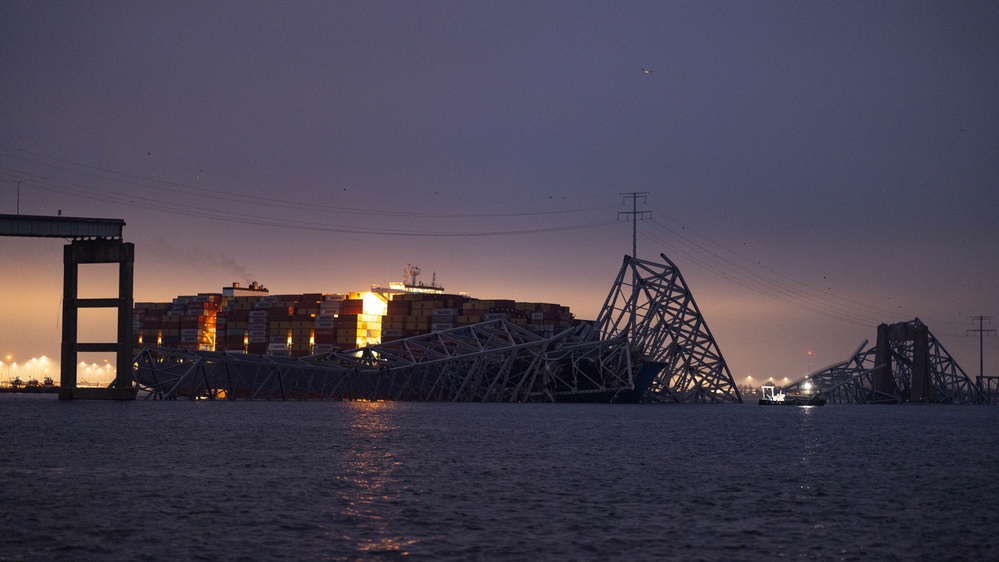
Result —
M136 354L145 346L304 357L503 319L543 337L570 328L568 307L477 299L420 282L407 265L389 288L348 293L271 294L253 282L218 293L140 302L133 317Z

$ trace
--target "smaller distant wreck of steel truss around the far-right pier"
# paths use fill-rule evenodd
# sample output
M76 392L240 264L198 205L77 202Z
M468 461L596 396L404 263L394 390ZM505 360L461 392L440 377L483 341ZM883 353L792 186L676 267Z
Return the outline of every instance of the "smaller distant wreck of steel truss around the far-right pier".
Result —
M794 381L785 389L795 393L820 392L830 403L838 404L902 404L905 402L933 402L942 404L988 403L982 390L944 349L926 326L918 319L891 326L879 327L879 335L912 332L922 329L927 334L926 367L928 389L925 398L916 400L914 387L919 386L919 361L923 357L916 341L906 338L879 337L886 350L877 345L864 350L867 340L845 361L835 363ZM914 372L916 376L914 377ZM810 388L806 389L806 385Z

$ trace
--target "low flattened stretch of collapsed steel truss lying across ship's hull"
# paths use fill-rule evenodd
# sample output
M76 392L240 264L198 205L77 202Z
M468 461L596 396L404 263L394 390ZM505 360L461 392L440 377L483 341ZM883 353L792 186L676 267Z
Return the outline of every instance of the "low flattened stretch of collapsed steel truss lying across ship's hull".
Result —
M136 365L147 399L613 401L634 387L624 339L506 320L301 358L146 348Z

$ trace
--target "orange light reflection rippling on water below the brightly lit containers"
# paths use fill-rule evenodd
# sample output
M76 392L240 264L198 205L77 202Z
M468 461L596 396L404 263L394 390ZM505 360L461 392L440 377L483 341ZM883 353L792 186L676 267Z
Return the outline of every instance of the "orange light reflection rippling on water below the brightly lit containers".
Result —
M398 536L392 528L404 489L396 477L402 462L392 445L398 404L350 402L346 406L348 447L336 474L342 507L334 517L349 523L350 532L341 539L362 552L408 554L405 549L414 541Z

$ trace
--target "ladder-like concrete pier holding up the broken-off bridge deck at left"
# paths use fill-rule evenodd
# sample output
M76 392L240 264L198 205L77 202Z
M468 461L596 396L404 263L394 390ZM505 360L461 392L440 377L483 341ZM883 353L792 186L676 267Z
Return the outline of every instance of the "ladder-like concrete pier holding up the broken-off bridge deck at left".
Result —
M79 298L80 264L117 263L117 298ZM59 398L62 400L133 400L132 387L132 289L135 266L134 244L121 239L78 239L63 252L62 369ZM116 308L118 341L80 343L77 331L81 308ZM115 352L116 375L110 388L77 388L78 353Z

